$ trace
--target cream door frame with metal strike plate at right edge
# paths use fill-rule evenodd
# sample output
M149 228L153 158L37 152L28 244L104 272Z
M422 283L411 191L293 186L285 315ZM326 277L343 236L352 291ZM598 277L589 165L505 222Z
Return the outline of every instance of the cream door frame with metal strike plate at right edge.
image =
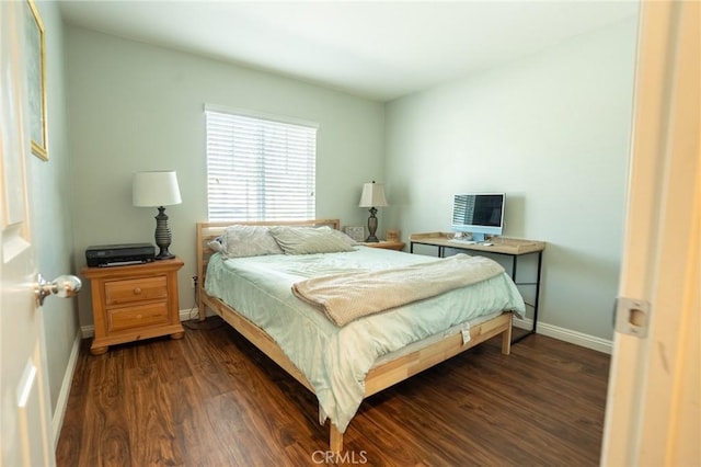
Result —
M619 307L601 464L698 466L701 3L641 5L620 280L632 305Z

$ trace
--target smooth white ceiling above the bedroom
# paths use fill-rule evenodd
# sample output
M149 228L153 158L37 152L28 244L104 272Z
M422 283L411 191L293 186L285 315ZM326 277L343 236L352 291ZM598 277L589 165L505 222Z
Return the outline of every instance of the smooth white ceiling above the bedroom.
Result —
M59 1L66 22L379 101L637 14L637 1Z

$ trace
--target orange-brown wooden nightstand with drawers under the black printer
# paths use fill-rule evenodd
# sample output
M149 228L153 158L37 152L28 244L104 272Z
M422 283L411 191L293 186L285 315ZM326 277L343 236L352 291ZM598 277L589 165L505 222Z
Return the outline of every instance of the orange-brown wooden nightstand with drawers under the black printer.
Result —
M113 267L83 267L90 278L95 337L90 352L110 345L170 334L183 338L177 299L177 271L172 260Z

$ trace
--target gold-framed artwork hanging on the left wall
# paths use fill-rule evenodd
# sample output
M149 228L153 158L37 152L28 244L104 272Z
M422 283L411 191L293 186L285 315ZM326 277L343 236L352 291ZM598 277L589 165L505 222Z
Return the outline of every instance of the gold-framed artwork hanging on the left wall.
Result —
M46 126L46 45L44 23L33 0L26 0L25 50L27 98L30 100L30 137L32 153L48 160Z

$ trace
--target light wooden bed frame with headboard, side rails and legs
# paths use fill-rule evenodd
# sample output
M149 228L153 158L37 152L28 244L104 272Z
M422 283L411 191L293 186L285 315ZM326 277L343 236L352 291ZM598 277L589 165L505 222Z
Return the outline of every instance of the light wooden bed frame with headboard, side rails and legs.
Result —
M313 219L294 221L254 221L254 223L198 223L197 224L197 274L199 293L199 320L205 320L206 308L211 309L225 321L231 324L237 331L245 337L251 343L263 353L281 366L289 375L302 384L307 389L314 392L313 387L304 375L285 355L277 343L261 328L240 315L218 298L207 295L204 288L205 274L209 257L214 253L207 243L219 237L226 227L238 225L274 226L330 226L338 229L338 219ZM470 341L463 344L461 332L448 335L445 339L421 348L397 360L391 360L382 365L374 366L365 378L365 397L381 391L410 376L413 376L426 368L437 365L461 352L467 351L495 335L502 334L502 353L508 355L512 345L512 312L504 312L495 318L484 321L470 328ZM343 451L343 433L341 433L333 422L330 423L330 449L334 453Z

